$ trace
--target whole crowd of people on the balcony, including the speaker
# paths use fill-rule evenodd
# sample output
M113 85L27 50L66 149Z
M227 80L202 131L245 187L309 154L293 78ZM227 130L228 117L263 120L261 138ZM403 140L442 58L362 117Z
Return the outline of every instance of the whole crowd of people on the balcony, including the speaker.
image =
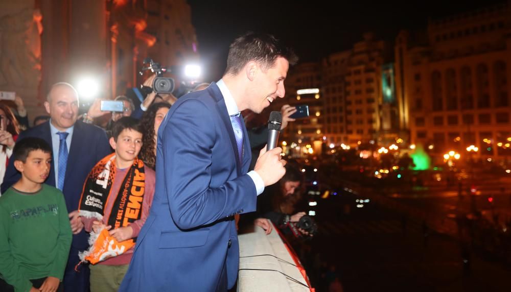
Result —
M265 151L266 135L247 132L239 114L260 113L283 98L295 62L274 37L249 33L231 45L219 82L200 84L179 100L152 92L135 106L121 95L115 101L123 102L123 111L101 111L96 100L80 116L77 91L60 82L44 102L48 116L34 119L32 128L19 96L14 105L0 102L0 290L140 290L151 277L149 290L232 287L239 256L235 217L255 211L257 196L286 169L283 192L264 217L275 221L271 212L281 212L275 222L282 225L282 218L295 222L304 215L292 214L300 173L284 168L280 148ZM295 109L286 105L282 112L284 128ZM216 119L223 114L227 121ZM254 147L263 150L251 157ZM254 223L271 232L263 216ZM225 238L228 243L218 245ZM137 270L150 259L150 269ZM172 272L181 276L158 271L156 263L163 262L175 262ZM187 278L204 269L211 277L202 283Z

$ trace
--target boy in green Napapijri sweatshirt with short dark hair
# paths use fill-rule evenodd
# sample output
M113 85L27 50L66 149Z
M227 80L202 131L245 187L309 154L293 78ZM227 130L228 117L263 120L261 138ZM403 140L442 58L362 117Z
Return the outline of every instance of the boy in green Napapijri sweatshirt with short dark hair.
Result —
M71 225L62 192L43 184L50 145L25 138L11 159L21 179L0 197L0 291L62 291Z

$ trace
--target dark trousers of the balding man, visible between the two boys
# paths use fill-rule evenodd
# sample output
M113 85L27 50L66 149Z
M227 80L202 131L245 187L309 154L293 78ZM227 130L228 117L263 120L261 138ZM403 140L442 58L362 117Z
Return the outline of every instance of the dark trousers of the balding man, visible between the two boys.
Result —
M78 252L79 250L74 247L71 247L69 251L69 258L67 259L64 272L64 281L62 281L64 284L64 291L89 292L89 265L82 263L78 266L78 272L75 271L75 266L80 262Z

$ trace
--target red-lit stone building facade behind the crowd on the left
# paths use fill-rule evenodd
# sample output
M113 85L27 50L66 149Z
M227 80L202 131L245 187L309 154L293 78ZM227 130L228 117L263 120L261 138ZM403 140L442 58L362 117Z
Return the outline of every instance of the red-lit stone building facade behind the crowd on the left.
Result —
M30 117L46 114L42 104L56 82L92 77L97 97L111 98L141 83L146 57L170 66L197 51L184 0L3 1L0 19L9 43L0 63L10 64L0 86L22 96Z

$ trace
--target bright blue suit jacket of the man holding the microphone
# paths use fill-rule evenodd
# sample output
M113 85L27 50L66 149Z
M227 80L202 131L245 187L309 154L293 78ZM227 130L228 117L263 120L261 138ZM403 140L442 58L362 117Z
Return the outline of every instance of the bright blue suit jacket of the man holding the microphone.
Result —
M245 127L243 127L245 128ZM255 211L257 192L240 163L216 84L180 98L158 131L156 189L120 291L214 291L236 282L234 215ZM229 242L231 244L229 245ZM225 278L223 278L225 280Z

